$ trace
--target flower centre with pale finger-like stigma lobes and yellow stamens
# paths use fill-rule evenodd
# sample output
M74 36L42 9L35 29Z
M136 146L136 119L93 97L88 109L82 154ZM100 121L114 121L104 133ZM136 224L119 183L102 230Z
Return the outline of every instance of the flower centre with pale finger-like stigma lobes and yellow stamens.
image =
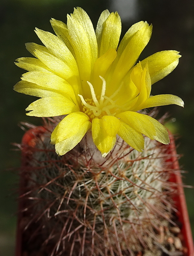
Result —
M81 105L83 106L82 111L90 117L90 120L97 117L101 118L104 115L114 116L116 114L110 113L110 109L116 107L115 102L111 99L115 93L111 97L105 96L106 81L103 77L100 76L100 78L102 80L101 96L96 97L94 87L89 81L87 83L90 86L92 99L84 99L82 95L78 94L81 99Z

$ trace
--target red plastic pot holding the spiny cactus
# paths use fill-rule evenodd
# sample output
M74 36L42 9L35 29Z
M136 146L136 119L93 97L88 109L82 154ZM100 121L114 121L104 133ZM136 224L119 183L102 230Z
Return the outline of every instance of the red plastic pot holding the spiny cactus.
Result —
M32 157L33 148L36 145L37 138L41 137L44 134L46 129L43 126L32 128L23 136L22 139L22 167L27 167L29 161ZM182 178L179 168L179 163L177 160L177 151L174 143L173 135L170 135L171 143L167 146L166 153L170 155L168 158L169 168L175 172L171 173L169 181L172 183L172 187L176 186L177 193L174 194L173 201L174 205L177 208L177 218L182 224L181 234L183 236L182 243L185 248L184 256L194 256L194 243L191 234L191 227L188 217L188 211L185 201L185 194L182 185ZM26 180L23 179L22 175L20 176L20 195L23 195L22 188L25 186ZM18 221L17 221L17 237L16 237L16 253L15 256L23 256L22 252L22 236L23 236L23 213L20 209L23 209L23 200L19 200L19 212L18 212Z

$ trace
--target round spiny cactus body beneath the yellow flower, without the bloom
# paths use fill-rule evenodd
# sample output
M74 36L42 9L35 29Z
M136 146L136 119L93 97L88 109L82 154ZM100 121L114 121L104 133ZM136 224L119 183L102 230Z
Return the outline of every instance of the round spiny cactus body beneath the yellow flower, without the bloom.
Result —
M88 132L57 156L50 134L58 121L48 119L41 132L32 131L29 145L22 145L23 250L47 256L154 250L173 209L166 146L146 137L139 152L117 137L103 158Z

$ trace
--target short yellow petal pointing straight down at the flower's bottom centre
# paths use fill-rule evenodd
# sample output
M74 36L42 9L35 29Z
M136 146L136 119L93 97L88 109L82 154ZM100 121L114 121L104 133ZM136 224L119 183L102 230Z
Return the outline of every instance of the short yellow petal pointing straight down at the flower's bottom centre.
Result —
M94 144L105 157L116 143L116 134L119 131L120 122L115 116L103 116L101 119L92 120L92 137Z

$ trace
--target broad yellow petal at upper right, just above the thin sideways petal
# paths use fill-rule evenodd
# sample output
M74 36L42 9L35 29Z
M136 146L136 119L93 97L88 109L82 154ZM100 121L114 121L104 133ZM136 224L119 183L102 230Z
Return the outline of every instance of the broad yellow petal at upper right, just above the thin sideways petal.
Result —
M141 61L142 68L148 63L152 84L167 76L177 67L181 57L178 53L173 50L156 52Z

